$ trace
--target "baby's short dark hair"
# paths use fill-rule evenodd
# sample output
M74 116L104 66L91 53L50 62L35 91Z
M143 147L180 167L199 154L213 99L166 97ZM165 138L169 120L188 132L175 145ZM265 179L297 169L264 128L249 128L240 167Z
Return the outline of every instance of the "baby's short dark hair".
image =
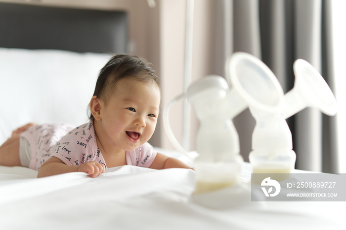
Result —
M119 54L113 56L100 70L93 96L107 103L115 84L120 79L128 77L143 82L155 82L160 88L159 78L151 63L138 56ZM89 118L93 119L91 112Z

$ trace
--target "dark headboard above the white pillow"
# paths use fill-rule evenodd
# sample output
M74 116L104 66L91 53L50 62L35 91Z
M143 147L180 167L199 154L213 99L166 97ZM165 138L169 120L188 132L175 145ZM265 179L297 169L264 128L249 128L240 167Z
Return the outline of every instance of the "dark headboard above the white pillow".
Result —
M126 53L123 11L0 3L0 47Z

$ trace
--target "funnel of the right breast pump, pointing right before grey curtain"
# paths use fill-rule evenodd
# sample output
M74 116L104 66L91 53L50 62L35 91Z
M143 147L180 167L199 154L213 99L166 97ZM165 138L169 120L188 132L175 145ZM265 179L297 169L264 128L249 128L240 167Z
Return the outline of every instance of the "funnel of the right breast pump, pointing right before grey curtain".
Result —
M283 116L289 118L306 107L317 108L326 115L334 116L337 102L321 74L303 59L294 62L293 70L295 84L285 94Z

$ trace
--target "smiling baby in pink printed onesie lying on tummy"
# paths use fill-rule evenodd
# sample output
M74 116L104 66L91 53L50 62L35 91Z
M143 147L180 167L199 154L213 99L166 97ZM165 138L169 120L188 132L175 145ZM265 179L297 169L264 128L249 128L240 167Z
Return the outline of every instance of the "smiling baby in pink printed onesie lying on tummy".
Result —
M67 172L96 177L105 168L126 164L191 168L156 153L147 143L157 124L160 99L150 63L116 55L100 71L87 124L23 126L0 146L0 165L30 167L39 171L38 177Z

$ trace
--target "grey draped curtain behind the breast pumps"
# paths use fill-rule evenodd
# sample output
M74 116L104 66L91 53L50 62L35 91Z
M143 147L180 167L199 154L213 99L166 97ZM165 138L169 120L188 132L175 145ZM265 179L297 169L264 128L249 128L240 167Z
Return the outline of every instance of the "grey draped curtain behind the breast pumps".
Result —
M330 0L222 0L215 1L214 11L215 23L219 25L214 29L216 74L224 76L220 63L224 63L228 53L247 52L269 66L287 93L295 80L293 63L302 58L322 74L333 90L333 73L329 67L333 63L328 35ZM227 26L232 29L224 30ZM226 42L232 45L224 50ZM246 110L233 122L239 133L241 154L248 161L255 120ZM296 168L339 171L333 117L306 108L287 122L297 154Z

